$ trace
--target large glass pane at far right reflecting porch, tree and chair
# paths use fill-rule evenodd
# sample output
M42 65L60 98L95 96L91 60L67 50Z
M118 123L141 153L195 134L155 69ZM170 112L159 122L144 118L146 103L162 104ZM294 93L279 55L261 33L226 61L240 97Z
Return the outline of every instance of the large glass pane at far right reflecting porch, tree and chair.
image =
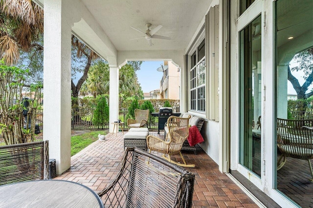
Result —
M312 121L313 0L277 0L274 5L274 186L299 207L312 206L313 132L302 126L312 126L307 121Z

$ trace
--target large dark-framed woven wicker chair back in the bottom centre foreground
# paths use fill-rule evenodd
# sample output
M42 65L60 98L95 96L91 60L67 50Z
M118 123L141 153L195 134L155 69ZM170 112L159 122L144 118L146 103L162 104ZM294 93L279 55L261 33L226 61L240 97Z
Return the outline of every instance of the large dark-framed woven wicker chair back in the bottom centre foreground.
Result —
M116 178L98 195L106 208L191 208L194 181L185 168L127 147Z

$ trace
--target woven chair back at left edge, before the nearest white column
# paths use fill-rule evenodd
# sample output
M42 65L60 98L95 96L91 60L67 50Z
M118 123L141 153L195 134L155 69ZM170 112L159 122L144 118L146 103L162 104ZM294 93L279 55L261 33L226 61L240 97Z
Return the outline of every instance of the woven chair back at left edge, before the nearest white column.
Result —
M0 146L0 185L49 179L48 141Z

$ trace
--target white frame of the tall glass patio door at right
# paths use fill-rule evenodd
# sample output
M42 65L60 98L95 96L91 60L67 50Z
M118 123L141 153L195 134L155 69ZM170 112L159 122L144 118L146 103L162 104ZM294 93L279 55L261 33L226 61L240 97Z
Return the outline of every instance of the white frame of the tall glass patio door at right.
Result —
M230 168L237 170L243 176L260 188L281 207L298 207L294 202L286 198L279 190L275 189L276 184L276 66L275 66L275 7L276 0L256 0L240 16L239 0L230 3L230 103L232 121L230 129ZM236 5L234 5L236 4ZM262 103L261 103L261 179L251 170L239 163L239 128L240 128L240 105L239 105L239 32L261 14L261 42L262 42ZM234 25L234 26L232 26ZM273 157L274 156L274 157Z

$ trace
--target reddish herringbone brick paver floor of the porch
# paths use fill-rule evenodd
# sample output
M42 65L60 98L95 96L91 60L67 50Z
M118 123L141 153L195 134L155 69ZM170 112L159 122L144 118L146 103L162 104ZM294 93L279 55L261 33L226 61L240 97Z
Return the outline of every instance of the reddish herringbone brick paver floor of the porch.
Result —
M150 134L157 135L156 132ZM163 135L161 134L160 137ZM106 187L118 172L123 158L123 134L106 135L106 140L96 141L71 157L71 167L54 179L78 182L99 192ZM187 168L196 175L193 207L258 208L258 206L227 175L219 171L218 165L204 151L183 152ZM179 160L179 157L174 157Z

